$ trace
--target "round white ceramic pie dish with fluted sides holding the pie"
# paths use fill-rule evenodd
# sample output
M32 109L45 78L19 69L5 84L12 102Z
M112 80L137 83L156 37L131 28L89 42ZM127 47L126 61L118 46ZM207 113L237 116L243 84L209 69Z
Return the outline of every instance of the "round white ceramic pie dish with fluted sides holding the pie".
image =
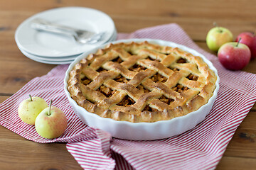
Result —
M73 110L78 115L78 117L82 120L83 123L85 123L86 125L89 125L90 127L99 128L101 130L110 132L112 137L117 137L124 140L158 140L158 139L163 139L166 137L171 137L171 136L179 135L183 132L186 132L187 130L194 128L198 123L201 123L201 121L204 120L204 118L206 118L206 115L208 115L208 113L210 112L210 109L213 107L213 103L218 94L220 78L218 77L217 69L215 69L213 64L209 60L207 60L206 57L196 52L196 50L188 48L184 45L178 45L174 42L168 42L164 40L152 40L152 39L129 39L129 40L117 40L112 43L132 42L132 41L143 42L145 40L151 43L159 44L159 45L179 47L182 50L191 52L191 54L193 55L202 57L204 62L206 62L210 67L210 69L212 69L217 75L217 81L215 83L216 88L215 88L215 91L213 92L213 96L209 99L208 103L206 103L206 105L204 106L201 106L201 108L199 108L197 111L193 111L191 113L188 113L187 115L173 118L171 120L161 120L154 123L131 123L127 121L117 121L111 118L102 118L99 115L96 115L95 113L87 112L85 108L78 106L78 104L73 100L73 98L70 97L70 93L68 91L69 72L73 69L75 64L80 62L80 60L85 58L87 55L89 55L90 53L96 52L98 49L104 48L106 46L106 45L100 45L100 47L97 47L94 50L91 50L89 52L85 52L84 54L76 58L76 60L70 64L65 74L65 79L64 79L65 94L66 96L68 96L68 101L70 102L70 105L73 107Z

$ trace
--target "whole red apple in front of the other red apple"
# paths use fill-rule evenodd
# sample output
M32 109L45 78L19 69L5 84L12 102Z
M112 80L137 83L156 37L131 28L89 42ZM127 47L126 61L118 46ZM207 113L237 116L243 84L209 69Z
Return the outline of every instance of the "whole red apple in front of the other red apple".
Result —
M250 62L250 49L238 42L227 42L218 50L218 59L226 69L239 70Z

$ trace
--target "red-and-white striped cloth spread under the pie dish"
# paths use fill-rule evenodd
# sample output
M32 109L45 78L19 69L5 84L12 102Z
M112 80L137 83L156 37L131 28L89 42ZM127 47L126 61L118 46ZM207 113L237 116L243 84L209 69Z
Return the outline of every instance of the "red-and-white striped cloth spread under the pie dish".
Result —
M67 149L82 169L215 169L236 128L256 101L256 75L224 69L215 55L198 47L175 23L119 33L118 39L154 38L191 47L205 55L218 69L220 90L203 122L181 135L154 141L120 140L90 128L73 113L63 91L68 65L59 65L43 77L28 82L0 104L0 125L34 142L67 142ZM56 139L40 137L33 125L18 118L18 104L40 96L67 115L68 129Z

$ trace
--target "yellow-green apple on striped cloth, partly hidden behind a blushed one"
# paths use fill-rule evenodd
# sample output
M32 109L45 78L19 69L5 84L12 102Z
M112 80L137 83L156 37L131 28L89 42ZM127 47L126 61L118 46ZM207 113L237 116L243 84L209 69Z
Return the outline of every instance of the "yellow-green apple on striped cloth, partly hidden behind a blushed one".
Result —
M35 125L36 117L47 107L48 104L43 98L36 96L31 97L31 95L29 95L29 98L22 101L18 106L18 116L24 123Z

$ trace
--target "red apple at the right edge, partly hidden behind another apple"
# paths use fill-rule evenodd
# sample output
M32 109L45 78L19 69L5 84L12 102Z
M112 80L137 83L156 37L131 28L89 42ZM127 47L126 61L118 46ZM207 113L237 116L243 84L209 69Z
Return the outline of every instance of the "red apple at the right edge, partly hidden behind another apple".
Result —
M247 45L251 51L251 59L256 58L256 36L253 33L244 32L240 33L238 37L235 39L238 42L239 38L241 38L240 43Z

